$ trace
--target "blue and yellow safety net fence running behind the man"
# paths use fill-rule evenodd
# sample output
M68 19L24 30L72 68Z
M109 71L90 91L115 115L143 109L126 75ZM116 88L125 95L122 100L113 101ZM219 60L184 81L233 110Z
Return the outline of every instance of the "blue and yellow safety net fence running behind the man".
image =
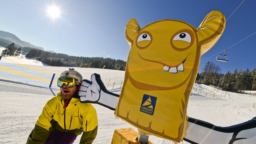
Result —
M51 72L33 68L31 66L14 62L0 56L0 79L19 81L33 85L59 88L57 80L59 75ZM114 89L122 86L120 82L103 82L107 89Z

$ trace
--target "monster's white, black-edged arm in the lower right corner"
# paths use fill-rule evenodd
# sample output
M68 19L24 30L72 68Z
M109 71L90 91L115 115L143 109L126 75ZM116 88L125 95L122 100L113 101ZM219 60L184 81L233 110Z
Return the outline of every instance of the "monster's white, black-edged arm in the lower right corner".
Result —
M219 127L189 117L184 140L192 144L254 143L256 141L256 117L229 127Z

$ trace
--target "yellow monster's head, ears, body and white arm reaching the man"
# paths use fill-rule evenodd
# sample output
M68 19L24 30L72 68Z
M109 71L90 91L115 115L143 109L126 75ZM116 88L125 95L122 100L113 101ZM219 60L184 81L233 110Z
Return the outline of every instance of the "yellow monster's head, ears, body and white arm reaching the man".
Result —
M82 83L80 100L111 105L111 109L117 105L115 115L141 133L180 142L188 122L188 99L200 57L218 41L224 28L225 17L219 11L210 12L198 29L170 19L140 29L138 22L131 19L125 28L131 48L119 100L95 86L97 82ZM90 88L87 96L87 87L97 87L99 95L93 96Z

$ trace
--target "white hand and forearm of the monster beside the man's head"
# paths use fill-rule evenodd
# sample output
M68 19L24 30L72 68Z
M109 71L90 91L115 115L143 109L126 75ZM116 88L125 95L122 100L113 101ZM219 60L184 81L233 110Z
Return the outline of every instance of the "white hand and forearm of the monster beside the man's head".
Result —
M117 107L119 95L109 92L100 79L99 74L92 74L91 80L83 80L78 96L82 103L97 103L111 110Z

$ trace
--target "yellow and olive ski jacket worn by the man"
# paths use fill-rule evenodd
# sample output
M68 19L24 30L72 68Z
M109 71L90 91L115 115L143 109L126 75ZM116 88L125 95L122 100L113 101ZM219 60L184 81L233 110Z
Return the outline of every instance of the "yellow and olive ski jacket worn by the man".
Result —
M72 98L66 104L59 92L50 99L38 117L27 144L44 144L50 133L57 129L83 135L80 144L91 144L97 135L98 119L91 103L81 103L80 99Z

